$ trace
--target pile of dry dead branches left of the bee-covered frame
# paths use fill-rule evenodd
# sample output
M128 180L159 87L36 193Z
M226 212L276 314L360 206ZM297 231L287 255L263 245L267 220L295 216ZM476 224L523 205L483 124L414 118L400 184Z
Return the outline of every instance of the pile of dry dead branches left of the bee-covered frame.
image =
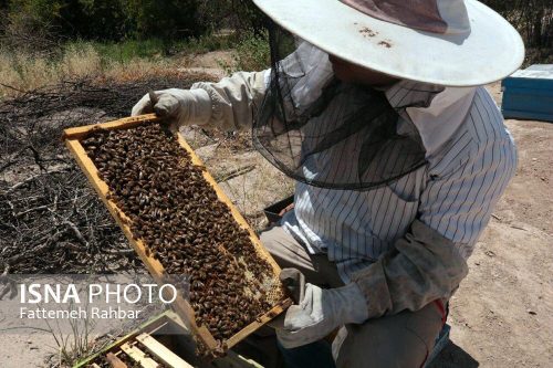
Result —
M0 101L0 264L9 264L10 273L142 272L69 157L62 132L128 116L148 90L187 88L201 80L209 78L175 75L101 84L84 78L32 91L12 87L17 97Z

